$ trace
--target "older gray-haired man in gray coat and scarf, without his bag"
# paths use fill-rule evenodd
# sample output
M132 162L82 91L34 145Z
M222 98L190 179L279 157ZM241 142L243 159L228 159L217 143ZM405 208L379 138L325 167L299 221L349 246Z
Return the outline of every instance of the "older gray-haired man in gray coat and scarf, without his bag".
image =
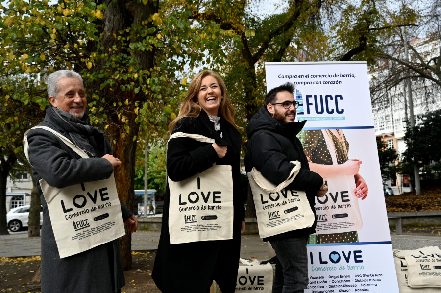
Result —
M69 139L89 156L80 157L60 137L46 129L27 134L29 162L37 180L43 205L42 292L121 292L125 285L118 238L89 250L60 258L50 219L48 203L40 179L51 187L63 189L75 184L109 178L121 161L112 155L104 133L90 124L86 115L86 93L78 73L56 71L48 78L50 105L39 126L46 126ZM135 232L138 222L121 203L122 217L128 230Z

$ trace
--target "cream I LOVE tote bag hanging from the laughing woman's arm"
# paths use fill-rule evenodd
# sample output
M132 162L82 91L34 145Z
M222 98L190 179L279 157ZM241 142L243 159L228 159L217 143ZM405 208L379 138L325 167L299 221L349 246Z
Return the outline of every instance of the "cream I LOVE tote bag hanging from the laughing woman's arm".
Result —
M215 140L183 132L170 140L188 137ZM233 239L233 174L230 165L216 165L182 181L167 177L170 189L170 243Z

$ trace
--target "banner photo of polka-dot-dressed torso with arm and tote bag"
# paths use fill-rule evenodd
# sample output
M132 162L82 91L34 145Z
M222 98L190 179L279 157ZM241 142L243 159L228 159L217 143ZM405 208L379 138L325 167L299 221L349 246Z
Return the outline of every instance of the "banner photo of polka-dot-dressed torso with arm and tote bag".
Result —
M298 135L311 171L319 173L329 191L316 199L317 235L309 243L358 242L363 227L358 199L368 196L359 174L359 159L349 159L349 143L341 129L302 130Z

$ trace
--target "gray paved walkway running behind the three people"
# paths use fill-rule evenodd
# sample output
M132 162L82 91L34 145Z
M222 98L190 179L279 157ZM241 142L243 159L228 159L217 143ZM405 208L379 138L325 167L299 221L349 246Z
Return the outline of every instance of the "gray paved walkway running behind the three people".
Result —
M132 250L147 251L158 248L160 232L140 231L132 234ZM418 249L424 246L441 245L441 237L426 236L418 233L391 235L393 249ZM243 235L241 241L241 257L245 259L269 259L268 243L264 243L259 235ZM0 257L24 257L41 255L40 237L29 238L27 231L10 235L0 235Z

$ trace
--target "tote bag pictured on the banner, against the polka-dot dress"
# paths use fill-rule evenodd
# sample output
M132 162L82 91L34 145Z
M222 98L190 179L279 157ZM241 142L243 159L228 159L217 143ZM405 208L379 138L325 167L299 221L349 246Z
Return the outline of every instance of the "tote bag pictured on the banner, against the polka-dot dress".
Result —
M331 133L327 129L321 130L326 146L332 158L333 165L337 165L337 155ZM343 140L343 151L347 155L343 131L338 130ZM358 205L358 198L354 195L354 175L336 175L323 178L328 186L328 192L323 197L316 197L317 227L316 234L333 234L359 231L363 227L363 220Z

